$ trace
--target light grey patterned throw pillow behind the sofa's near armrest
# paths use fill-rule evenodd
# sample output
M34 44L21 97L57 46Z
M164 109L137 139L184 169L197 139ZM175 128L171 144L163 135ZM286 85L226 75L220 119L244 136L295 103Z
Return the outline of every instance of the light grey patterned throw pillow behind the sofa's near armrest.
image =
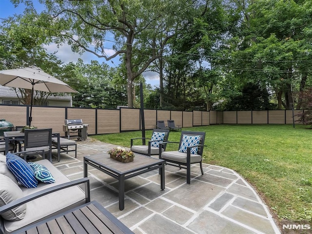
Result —
M0 206L23 197L20 187L9 177L0 174ZM26 204L20 205L1 214L2 218L10 221L21 220L26 212Z

